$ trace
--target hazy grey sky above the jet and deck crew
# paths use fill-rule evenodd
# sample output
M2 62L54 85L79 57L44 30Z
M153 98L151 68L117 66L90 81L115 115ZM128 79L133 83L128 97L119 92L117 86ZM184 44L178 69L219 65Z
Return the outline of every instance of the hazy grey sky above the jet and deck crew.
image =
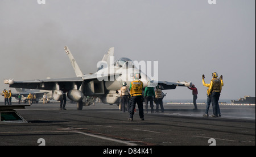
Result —
M220 99L255 97L254 0L0 1L1 91L4 79L75 77L64 46L84 74L114 47L115 59L158 61L160 81L192 81L198 99L213 72L223 76ZM164 93L193 98L187 87Z

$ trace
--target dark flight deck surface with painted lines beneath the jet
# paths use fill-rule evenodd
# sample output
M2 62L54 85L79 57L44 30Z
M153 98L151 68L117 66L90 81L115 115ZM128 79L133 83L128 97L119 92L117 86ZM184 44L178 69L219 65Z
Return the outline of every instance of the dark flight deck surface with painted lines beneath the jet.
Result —
M205 105L193 111L193 105L164 103L164 113L144 114L144 121L138 108L133 121L117 105L66 108L51 102L16 109L27 123L0 123L0 145L255 146L255 106L220 105L222 117L213 118L203 117Z

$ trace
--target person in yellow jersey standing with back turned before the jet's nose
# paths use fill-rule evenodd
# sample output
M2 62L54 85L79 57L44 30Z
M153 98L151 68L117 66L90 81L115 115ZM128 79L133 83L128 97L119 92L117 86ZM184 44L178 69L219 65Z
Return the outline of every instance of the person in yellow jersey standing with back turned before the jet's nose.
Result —
M133 121L133 115L134 115L134 109L136 106L136 103L138 104L139 108L139 117L142 121L144 121L144 112L143 112L143 97L142 97L142 90L143 90L143 82L139 79L141 79L140 73L134 74L134 81L130 84L130 117L129 121Z

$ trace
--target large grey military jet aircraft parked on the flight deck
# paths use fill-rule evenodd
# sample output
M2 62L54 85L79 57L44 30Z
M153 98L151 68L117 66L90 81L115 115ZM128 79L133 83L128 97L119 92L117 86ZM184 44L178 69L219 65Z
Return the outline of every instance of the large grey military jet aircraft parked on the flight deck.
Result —
M82 110L88 98L100 97L104 104L119 104L117 90L121 88L122 82L130 85L130 82L133 81L134 73L141 73L143 88L146 88L148 81L152 81L154 86L161 85L162 90L175 89L176 86L192 85L192 82L185 81L167 82L152 80L150 76L135 66L135 61L125 57L114 61L114 47L110 48L103 59L97 63L98 70L96 73L83 75L69 48L65 46L64 49L75 70L76 77L31 81L14 81L9 79L5 80L5 84L9 84L10 88L52 90L52 98L56 101L62 100L63 93L67 92L68 98L77 102L78 110Z

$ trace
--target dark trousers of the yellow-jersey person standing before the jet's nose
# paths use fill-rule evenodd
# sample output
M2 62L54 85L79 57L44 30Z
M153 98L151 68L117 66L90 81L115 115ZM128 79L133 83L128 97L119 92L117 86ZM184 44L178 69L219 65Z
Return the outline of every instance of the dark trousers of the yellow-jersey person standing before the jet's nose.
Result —
M139 117L144 118L142 96L133 96L133 97L131 97L131 99L130 99L130 110L129 110L130 117L129 118L133 119L134 109L135 109L136 103L138 104L138 108L139 108Z

